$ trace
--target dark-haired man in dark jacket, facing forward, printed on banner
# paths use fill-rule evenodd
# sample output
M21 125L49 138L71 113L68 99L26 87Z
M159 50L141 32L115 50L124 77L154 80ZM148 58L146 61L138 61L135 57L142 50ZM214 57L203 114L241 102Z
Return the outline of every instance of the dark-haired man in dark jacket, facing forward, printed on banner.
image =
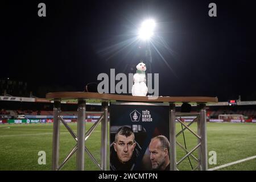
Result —
M123 126L115 133L115 141L110 145L110 170L132 171L141 147L135 142L134 132Z

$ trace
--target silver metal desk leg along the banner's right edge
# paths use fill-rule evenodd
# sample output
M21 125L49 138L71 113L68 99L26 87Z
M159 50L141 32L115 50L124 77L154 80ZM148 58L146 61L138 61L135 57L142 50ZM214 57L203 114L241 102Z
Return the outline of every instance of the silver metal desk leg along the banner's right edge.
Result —
M170 103L169 125L170 125L170 169L176 171L176 121L175 104Z

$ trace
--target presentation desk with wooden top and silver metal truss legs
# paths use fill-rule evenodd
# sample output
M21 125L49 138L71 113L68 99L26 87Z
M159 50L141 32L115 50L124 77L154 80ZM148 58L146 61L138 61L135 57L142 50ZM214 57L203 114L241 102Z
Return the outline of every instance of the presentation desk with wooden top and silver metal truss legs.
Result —
M76 167L77 170L82 171L84 170L84 154L85 152L90 156L90 159L98 166L103 171L106 171L108 169L108 164L107 164L107 159L108 159L108 104L111 102L111 97L113 96L112 94L104 94L102 95L95 95L93 93L93 96L90 98L99 98L101 99L102 103L102 115L98 119L96 123L85 133L85 113L86 113L86 98L89 96L84 93L79 93L79 96L82 95L84 97L79 97L79 96L74 96L71 97L70 95L67 96L67 93L63 95L63 93L58 95L56 94L55 97L51 96L51 94L54 93L49 93L48 98L54 100L54 108L53 108L53 146L52 146L52 170L60 170L65 163L71 158L73 154L76 153ZM68 93L69 94L69 93ZM110 99L108 100L108 96L110 95ZM77 134L75 134L72 129L68 126L68 124L64 121L64 119L61 117L61 109L60 109L60 101L61 98L77 98L78 105L77 105ZM104 98L103 98L104 97ZM117 96L113 96L112 98L116 98ZM126 98L126 99L124 99ZM135 97L136 98L136 97ZM127 104L130 102L136 101L133 96L126 96L122 97L119 100L122 101L128 101ZM138 97L138 101L143 101L144 102L154 102L154 100L143 100L139 99L142 97ZM147 98L147 97L146 97ZM188 156L192 156L192 159L195 159L197 161L197 167L196 169L199 170L208 170L208 155L207 155L207 121L206 121L206 108L205 104L207 100L201 99L203 97L195 99L195 97L184 97L185 102L189 102L188 100L191 99L192 102L197 103L197 107L199 108L199 112L197 113L176 113L175 111L175 97L168 97L166 100L161 100L161 101L168 101L168 105L170 107L170 112L169 112L169 120L170 120L170 170L171 171L176 171L178 170L177 166L183 162L185 158ZM209 102L217 102L217 98L208 98ZM129 101L131 100L131 101ZM117 100L115 100L117 101ZM159 101L159 100L156 100ZM179 103L182 102L182 98L178 98ZM154 103L156 104L156 103ZM157 104L156 104L157 105ZM166 103L159 103L159 105L166 105ZM182 116L188 116L188 115L193 115L196 116L196 118L189 123L188 125L185 125L184 122L182 122L179 118ZM197 121L197 133L192 131L189 126L192 125L192 123ZM64 159L63 163L59 164L59 140L60 140L60 122L64 124L64 126L67 128L69 133L72 135L72 137L76 141L76 145L73 147L71 152L67 155L67 157ZM93 130L98 126L98 124L101 122L101 163L98 163L97 160L93 157L93 155L90 153L88 148L85 146L85 141L88 139L90 134L92 134ZM179 131L176 134L176 122L180 122L181 125L184 126L184 129ZM197 144L196 146L191 150L188 151L183 147L179 142L176 141L176 137L178 137L184 130L190 131L195 137L197 137ZM183 156L178 162L176 159L176 145L180 146L187 154ZM199 159L197 159L192 153L198 149L198 156Z

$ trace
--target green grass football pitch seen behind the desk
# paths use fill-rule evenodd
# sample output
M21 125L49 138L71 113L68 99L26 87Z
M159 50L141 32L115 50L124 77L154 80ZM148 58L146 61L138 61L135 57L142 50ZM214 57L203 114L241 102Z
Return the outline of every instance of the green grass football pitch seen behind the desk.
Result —
M86 123L86 130L93 123ZM0 125L0 170L51 170L52 159L52 123L42 124L13 124ZM76 132L76 123L69 123ZM191 125L196 131L196 123ZM181 129L176 124L177 131ZM86 140L85 145L94 157L100 162L100 134L101 126ZM184 132L188 150L191 150L197 142L197 138L189 131ZM256 155L256 123L207 123L208 152L216 151L217 164L208 164L208 168L221 166L237 160ZM177 141L184 145L182 134ZM60 163L75 146L75 140L71 137L64 125L60 128ZM46 165L38 164L38 152L46 152ZM197 150L193 152L197 156ZM177 146L177 161L185 152ZM210 158L210 156L208 156ZM190 158L192 167L196 162ZM62 170L76 170L76 155L67 162ZM191 170L188 159L180 163L180 170ZM99 170L98 167L85 154L85 169ZM256 170L256 159L248 160L220 170Z

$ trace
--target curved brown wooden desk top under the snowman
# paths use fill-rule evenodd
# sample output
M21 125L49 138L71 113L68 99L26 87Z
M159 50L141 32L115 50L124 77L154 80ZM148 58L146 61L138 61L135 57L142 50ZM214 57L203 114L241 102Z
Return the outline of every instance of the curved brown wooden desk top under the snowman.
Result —
M108 101L127 101L127 102L218 102L217 97L153 97L146 96L126 96L121 94L106 94L94 92L53 92L47 93L46 98L49 100L60 99L70 100L77 98L85 98L88 100L108 100Z

